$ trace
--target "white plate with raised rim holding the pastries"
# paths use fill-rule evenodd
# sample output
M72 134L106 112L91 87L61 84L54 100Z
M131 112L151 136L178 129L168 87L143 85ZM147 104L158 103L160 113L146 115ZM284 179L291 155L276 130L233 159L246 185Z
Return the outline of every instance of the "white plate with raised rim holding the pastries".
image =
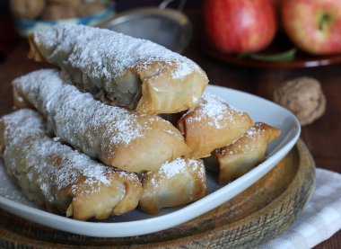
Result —
M269 102L249 93L214 85L209 85L206 91L219 95L241 111L247 111L252 120L266 122L282 130L280 138L277 138L268 147L267 160L237 180L221 186L215 183L211 174L207 173L209 191L205 198L186 206L162 209L156 216L144 214L136 209L123 216L111 217L101 222L78 221L48 213L31 204L22 196L21 191L10 182L4 170L4 163L0 160L0 207L22 218L74 234L123 237L140 236L177 226L232 199L254 182L257 182L284 158L299 138L301 126L293 113L274 102Z

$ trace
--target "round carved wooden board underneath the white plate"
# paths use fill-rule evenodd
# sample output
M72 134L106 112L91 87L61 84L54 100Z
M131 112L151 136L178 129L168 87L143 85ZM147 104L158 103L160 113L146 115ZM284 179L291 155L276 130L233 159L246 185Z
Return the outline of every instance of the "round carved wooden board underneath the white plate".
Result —
M222 206L178 227L146 236L93 238L43 227L0 209L0 248L246 248L278 236L302 213L315 164L299 140L275 168Z

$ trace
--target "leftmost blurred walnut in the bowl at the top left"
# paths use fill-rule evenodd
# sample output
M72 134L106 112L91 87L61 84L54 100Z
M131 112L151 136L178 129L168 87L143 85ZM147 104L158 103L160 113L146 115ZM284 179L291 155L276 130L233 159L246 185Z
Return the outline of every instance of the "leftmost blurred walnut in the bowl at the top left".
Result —
M45 8L45 0L11 0L13 15L24 19L37 18Z

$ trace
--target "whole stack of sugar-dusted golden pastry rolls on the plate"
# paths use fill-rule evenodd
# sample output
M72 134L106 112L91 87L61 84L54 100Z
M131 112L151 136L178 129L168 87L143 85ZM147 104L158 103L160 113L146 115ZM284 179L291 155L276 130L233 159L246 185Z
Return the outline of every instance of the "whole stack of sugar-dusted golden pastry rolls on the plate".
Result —
M155 214L205 196L204 157L218 162L220 182L237 175L226 176L240 163L227 165L225 151L249 144L254 122L203 95L207 77L190 59L82 25L57 25L29 40L29 57L58 69L13 81L14 105L24 110L1 120L0 150L8 173L38 204L82 220L137 206ZM159 116L180 111L187 112L176 127ZM258 151L251 165L258 164L278 134L251 139L258 150L243 158Z

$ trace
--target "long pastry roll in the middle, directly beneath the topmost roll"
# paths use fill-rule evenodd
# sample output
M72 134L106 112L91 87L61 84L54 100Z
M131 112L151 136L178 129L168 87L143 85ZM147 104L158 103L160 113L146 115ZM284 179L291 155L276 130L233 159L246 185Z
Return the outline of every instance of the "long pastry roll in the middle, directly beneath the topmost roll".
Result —
M109 106L66 84L55 69L13 81L14 103L29 102L48 120L48 131L106 165L139 173L188 154L178 129L156 114ZM20 98L18 98L20 97Z

